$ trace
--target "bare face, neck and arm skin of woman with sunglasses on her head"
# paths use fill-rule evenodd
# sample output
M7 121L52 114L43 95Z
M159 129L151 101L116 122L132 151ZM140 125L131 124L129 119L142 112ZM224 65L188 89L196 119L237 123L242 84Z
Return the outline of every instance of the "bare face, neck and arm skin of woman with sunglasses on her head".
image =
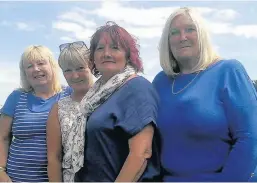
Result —
M87 65L68 64L63 69L64 77L73 89L72 100L80 102L93 85L93 75ZM47 121L47 158L48 178L50 182L62 182L62 135L58 116L58 105L55 104Z

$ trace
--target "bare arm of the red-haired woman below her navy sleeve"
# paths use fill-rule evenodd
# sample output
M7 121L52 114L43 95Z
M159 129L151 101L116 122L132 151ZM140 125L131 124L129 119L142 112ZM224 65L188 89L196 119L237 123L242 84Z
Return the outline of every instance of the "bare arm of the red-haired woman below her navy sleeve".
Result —
M138 134L129 139L129 155L115 182L136 182L147 166L147 159L152 156L154 128L147 125Z

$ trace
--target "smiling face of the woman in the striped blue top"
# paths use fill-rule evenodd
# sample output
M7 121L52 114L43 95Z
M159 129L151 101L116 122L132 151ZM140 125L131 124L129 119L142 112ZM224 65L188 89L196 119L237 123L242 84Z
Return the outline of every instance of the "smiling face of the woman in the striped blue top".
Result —
M23 68L33 89L52 84L53 71L48 60L24 61Z

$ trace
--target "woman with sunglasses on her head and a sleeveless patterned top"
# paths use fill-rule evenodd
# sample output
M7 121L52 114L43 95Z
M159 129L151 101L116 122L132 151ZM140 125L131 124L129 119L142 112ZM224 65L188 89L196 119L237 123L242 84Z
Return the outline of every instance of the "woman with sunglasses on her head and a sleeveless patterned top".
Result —
M47 122L48 177L50 182L73 182L71 151L74 120L78 114L78 105L93 85L93 75L89 66L89 50L84 42L67 43L60 46L59 66L73 89L73 93L56 103ZM76 129L80 130L80 129Z

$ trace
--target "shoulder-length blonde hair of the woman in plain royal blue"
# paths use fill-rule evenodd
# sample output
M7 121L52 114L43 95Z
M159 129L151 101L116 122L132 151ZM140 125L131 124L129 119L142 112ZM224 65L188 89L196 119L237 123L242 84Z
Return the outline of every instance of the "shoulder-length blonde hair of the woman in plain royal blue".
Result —
M178 74L174 71L174 69L178 67L178 64L170 50L169 35L171 23L178 15L188 15L196 26L200 55L199 62L193 72L204 70L212 62L219 58L218 54L214 50L214 47L212 46L203 18L193 8L179 8L175 10L167 19L159 43L159 58L161 67L167 75L172 77Z

